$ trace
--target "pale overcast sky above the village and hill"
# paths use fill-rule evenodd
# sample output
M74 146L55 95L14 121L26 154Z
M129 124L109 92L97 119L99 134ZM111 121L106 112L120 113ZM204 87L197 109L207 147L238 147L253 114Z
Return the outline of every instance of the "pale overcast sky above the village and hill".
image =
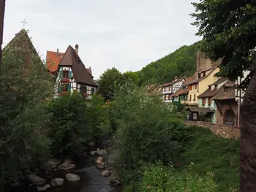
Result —
M136 72L200 40L189 16L198 0L7 0L4 45L25 29L43 59L79 45L94 79L106 69Z

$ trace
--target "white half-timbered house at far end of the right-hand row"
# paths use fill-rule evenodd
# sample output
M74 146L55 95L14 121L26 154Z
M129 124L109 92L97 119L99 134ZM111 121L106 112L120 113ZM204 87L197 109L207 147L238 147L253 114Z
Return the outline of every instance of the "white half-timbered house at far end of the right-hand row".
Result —
M181 88L182 83L184 82L184 78L178 79L178 77L175 77L175 79L172 82L167 82L162 87L162 99L164 102L172 102L173 98L172 95L176 91L178 91L179 88Z

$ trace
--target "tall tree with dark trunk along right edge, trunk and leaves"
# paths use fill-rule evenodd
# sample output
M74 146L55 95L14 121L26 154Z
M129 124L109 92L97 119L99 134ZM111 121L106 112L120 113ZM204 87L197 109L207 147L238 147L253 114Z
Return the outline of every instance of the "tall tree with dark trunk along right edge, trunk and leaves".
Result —
M200 49L214 61L222 58L219 75L236 80L243 71L255 65L256 1L204 0L192 3L196 12L193 25L197 35L203 36ZM241 88L249 84L241 107L241 185L240 191L256 191L255 150L255 70L252 70ZM253 77L252 81L250 79Z

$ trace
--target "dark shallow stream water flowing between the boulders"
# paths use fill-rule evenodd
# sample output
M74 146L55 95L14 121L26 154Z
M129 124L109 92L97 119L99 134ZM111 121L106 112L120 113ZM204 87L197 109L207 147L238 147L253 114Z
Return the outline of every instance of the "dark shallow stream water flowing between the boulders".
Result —
M97 146L102 148L102 146ZM80 176L80 181L78 182L68 182L65 180L64 185L61 187L51 187L45 192L121 192L121 185L112 185L109 182L109 177L102 177L100 174L101 171L97 169L95 158L96 155L91 155L91 150L95 150L97 148L91 147L88 151L87 157L79 157L73 159L75 161L76 169L73 172L74 174L78 174ZM108 158L108 155L104 156L105 159ZM53 178L65 178L65 174L67 172L58 171L53 172L50 175L46 174L38 174L39 177L42 177L46 180L47 183L50 183L50 180ZM17 192L20 191L28 191L35 192L37 188L34 186L19 188ZM13 191L13 192L16 192Z

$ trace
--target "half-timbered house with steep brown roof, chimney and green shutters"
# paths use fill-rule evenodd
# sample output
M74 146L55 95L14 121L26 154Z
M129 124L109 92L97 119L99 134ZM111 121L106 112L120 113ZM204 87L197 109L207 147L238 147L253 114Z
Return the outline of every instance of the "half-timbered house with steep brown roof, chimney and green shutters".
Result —
M55 99L67 92L78 92L85 99L91 99L98 86L78 55L78 45L75 45L75 50L70 45L67 47L55 76L56 85L53 96Z

